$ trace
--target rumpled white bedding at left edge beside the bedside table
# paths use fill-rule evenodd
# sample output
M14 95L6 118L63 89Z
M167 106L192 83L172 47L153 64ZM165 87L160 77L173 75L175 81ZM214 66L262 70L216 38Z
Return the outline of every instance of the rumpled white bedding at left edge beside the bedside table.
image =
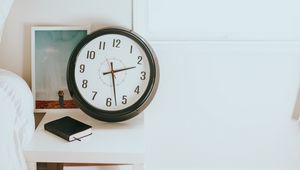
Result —
M27 168L22 148L34 132L33 97L26 82L0 69L0 169Z

